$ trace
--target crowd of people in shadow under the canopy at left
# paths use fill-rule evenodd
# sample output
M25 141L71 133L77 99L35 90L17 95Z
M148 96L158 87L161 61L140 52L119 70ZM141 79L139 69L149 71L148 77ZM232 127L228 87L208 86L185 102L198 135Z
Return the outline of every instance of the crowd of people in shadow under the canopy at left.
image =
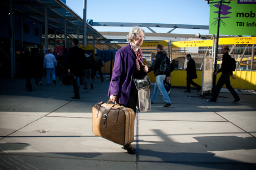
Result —
M26 78L26 89L33 91L31 79L35 78L35 85L50 85L51 80L53 84L56 84L56 77L58 76L62 85L66 83L66 76L68 73L73 78L70 79L70 84L74 87L75 95L73 99L80 99L79 90L80 85L83 85L83 89L87 89L90 86L93 89L93 81L95 81L97 71L100 74L101 81L104 81L101 68L102 59L95 54L87 54L86 50L78 48L78 40L73 39L72 48L64 48L62 55L60 53L53 54L52 49L45 47L24 48L24 52L19 57L21 75ZM42 82L42 75L47 76L47 82ZM77 82L77 83L76 83Z

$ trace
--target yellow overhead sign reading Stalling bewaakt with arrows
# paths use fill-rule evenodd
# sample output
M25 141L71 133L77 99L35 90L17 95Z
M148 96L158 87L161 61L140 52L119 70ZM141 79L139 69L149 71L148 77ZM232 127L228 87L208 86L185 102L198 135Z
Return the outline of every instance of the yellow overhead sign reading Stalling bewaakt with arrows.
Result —
M211 47L213 46L213 40L191 40L184 42L173 42L173 48L180 47Z

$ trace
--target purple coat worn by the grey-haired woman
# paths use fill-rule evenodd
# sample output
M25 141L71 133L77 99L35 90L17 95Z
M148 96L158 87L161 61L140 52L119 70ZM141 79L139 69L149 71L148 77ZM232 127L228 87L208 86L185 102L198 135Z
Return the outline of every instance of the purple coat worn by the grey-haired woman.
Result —
M142 58L141 61L143 62ZM117 102L121 105L127 105L135 63L130 44L116 52L108 96L116 95Z

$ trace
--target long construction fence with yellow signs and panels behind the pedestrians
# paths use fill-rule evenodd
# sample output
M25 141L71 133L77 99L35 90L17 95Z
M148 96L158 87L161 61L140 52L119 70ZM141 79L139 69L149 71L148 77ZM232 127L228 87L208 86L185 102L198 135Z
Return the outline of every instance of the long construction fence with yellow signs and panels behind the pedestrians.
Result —
M233 44L232 44L233 43ZM189 40L186 42L170 42L170 41L157 41L157 42L144 42L141 49L145 64L150 67L152 59L157 54L156 45L164 45L164 50L168 53L170 60L175 66L175 70L171 73L170 83L172 86L186 87L186 54L190 54L195 60L198 79L195 79L195 83L203 84L206 77L213 75L213 67L203 65L203 61L206 58L214 60L215 44L214 40ZM256 37L236 37L236 38L220 38L218 46L218 57L216 60L217 69L220 68L222 54L221 47L223 45L229 46L229 54L237 60L237 70L233 72L237 79L230 79L232 86L235 89L247 89L256 90ZM112 66L115 61L115 53L117 49L112 50L98 50L97 53L105 61L105 66L102 68L102 73L105 78L111 78ZM212 63L215 62L211 61ZM208 69L208 70L207 70ZM205 70L208 74L205 74ZM99 75L98 75L99 76ZM219 79L220 74L216 76L216 80ZM153 71L149 73L151 82L155 82L155 75ZM205 79L205 80L204 80ZM212 78L210 83L212 85ZM208 80L209 81L209 80ZM224 86L225 87L225 86Z

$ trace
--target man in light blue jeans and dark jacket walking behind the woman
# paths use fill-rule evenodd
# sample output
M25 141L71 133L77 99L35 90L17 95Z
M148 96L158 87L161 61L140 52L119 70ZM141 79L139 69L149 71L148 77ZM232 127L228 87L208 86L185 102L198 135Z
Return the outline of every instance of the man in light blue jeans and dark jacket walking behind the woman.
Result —
M168 107L168 106L171 106L171 101L170 101L168 92L165 90L164 80L165 78L166 78L166 81L170 80L170 70L168 68L168 63L163 62L163 64L161 64L162 61L166 60L167 58L163 50L164 50L164 46L161 44L158 44L156 47L157 54L155 56L155 59L151 67L149 68L149 72L154 70L154 74L156 76L154 94L151 96L151 103L154 104L156 96L160 90L163 96L163 99L165 101L163 107ZM169 64L170 64L170 60L169 60Z

